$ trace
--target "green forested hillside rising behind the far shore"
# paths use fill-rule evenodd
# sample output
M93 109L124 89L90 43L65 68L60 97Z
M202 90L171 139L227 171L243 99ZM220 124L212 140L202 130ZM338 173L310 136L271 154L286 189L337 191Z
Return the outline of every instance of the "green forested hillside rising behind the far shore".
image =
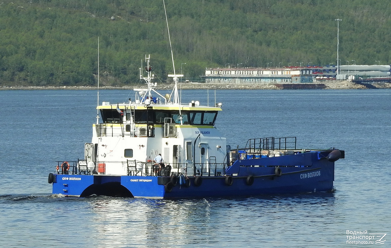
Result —
M337 18L341 64L391 64L389 0L166 0L166 7L176 73L186 63L186 79L226 64L337 64ZM100 75L114 84L139 82L145 54L161 80L173 73L162 0L3 0L0 86L95 85L98 36Z

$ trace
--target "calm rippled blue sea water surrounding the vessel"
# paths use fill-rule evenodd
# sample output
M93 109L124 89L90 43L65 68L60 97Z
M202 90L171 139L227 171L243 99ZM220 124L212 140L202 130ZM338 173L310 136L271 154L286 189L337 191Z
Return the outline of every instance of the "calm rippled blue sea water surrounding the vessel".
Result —
M182 93L182 102L207 103L206 90ZM214 91L209 96L213 105ZM390 90L219 90L216 96L224 110L217 128L233 148L249 138L296 136L300 148L345 150L335 166L335 193L59 198L47 175L55 161L83 157L96 122L96 91L0 91L0 246L391 247ZM100 91L100 101L129 97L126 90ZM387 233L386 241L346 244L346 230Z

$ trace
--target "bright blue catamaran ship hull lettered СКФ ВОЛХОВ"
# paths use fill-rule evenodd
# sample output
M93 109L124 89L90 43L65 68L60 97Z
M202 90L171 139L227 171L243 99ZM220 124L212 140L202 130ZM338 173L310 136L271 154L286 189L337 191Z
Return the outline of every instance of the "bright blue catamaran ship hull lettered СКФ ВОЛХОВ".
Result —
M174 186L171 177L53 175L53 194L186 198L331 191L334 161L327 159L329 153L241 159L226 169L226 176L189 177L190 185L178 180Z

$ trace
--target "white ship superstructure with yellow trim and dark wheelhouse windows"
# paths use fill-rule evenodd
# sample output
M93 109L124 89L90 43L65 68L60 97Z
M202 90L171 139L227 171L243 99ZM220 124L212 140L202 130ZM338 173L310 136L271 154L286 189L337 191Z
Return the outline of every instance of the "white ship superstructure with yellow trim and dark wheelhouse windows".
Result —
M85 159L96 162L100 175L151 175L153 160L161 153L171 173L202 173L194 168L201 164L205 171L211 168L219 174L228 162L226 139L214 127L221 103L215 107L199 106L197 101L181 104L176 89L160 95L151 82L150 57L145 59L147 77L140 68L140 78L147 88L134 89L134 100L97 107L101 119L93 125Z

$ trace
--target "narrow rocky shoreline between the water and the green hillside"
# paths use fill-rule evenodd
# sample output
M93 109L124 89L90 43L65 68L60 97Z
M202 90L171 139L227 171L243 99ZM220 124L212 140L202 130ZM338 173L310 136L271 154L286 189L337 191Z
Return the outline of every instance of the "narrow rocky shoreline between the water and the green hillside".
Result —
M322 85L322 89L369 89L368 87L362 84L355 84L347 80L337 81L329 80L325 82L319 82ZM319 85L317 84L317 85ZM289 89L305 89L302 86L303 84L286 84L290 85ZM308 86L314 86L315 84L306 84ZM298 87L292 87L298 86ZM377 89L391 89L391 83L373 83L371 84L373 88ZM134 87L140 86L102 86L100 89L133 89ZM156 89L172 89L173 85L169 84L163 87L156 87ZM178 86L181 89L282 89L281 84L255 84L255 83L246 83L246 84L228 84L228 83L199 83L199 82L187 82L182 83ZM0 86L0 90L37 90L37 89L74 89L74 90L91 90L97 89L93 86ZM285 88L286 89L286 88Z

